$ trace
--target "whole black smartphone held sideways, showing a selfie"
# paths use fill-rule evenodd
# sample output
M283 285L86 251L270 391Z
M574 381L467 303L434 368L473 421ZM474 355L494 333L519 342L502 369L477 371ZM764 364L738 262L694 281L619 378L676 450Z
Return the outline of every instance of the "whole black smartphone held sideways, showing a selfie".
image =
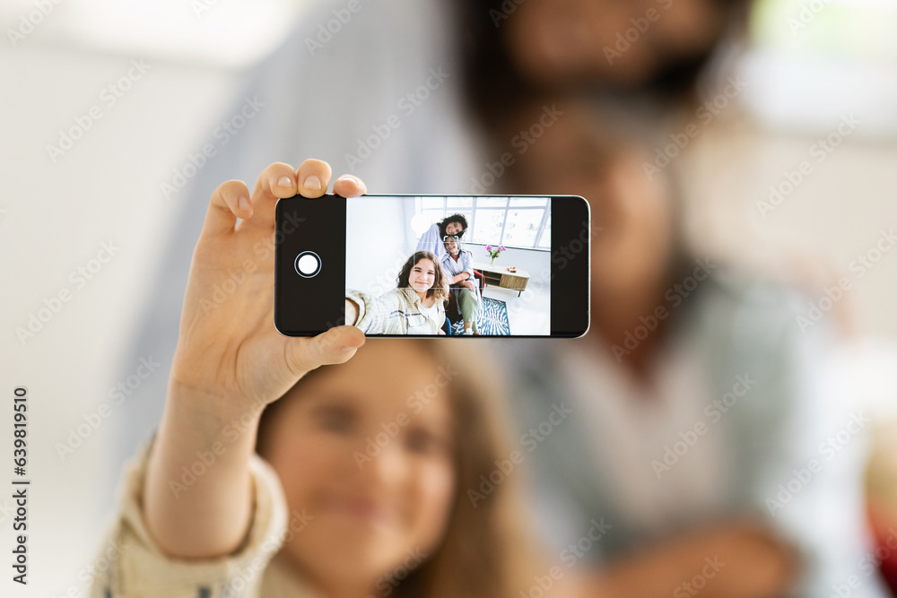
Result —
M588 330L591 219L578 195L295 195L275 212L274 326L286 336Z

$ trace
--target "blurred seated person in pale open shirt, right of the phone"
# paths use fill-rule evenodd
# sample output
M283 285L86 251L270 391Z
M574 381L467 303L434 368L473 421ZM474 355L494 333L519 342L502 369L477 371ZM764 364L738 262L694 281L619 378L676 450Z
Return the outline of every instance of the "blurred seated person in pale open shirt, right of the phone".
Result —
M673 130L649 110L534 97L498 139L546 103L563 117L501 186L588 198L591 327L502 352L521 428L561 400L576 414L532 454L534 510L551 514L561 560L603 517L609 530L577 559L594 572L586 591L886 595L861 568L868 420L830 375L835 318L802 325L807 290L689 248L675 165L644 171Z

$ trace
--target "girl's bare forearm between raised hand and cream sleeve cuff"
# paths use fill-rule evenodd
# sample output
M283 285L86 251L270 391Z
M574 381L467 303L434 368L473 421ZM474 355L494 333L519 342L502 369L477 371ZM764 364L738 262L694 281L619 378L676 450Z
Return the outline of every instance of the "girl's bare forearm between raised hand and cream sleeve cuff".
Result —
M146 524L162 550L211 558L239 547L252 516L259 415L170 385L144 490Z

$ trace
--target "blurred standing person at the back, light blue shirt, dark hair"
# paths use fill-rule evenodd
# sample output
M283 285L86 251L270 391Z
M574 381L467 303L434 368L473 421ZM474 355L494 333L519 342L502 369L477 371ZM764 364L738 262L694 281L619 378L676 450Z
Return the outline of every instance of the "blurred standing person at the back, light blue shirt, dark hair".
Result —
M501 111L505 90L516 94L528 81L549 89L649 90L674 101L688 93L746 5L383 0L360 4L331 33L327 23L336 13L345 17L344 0L317 3L271 56L248 70L222 114L228 120L253 100L264 104L256 116L170 196L181 212L161 243L164 255L151 274L157 291L122 363L130 367L133 355L147 354L164 363L173 354L190 239L202 228L205 198L222 180L254 178L274 161L313 154L388 193L469 194L472 178L493 159L482 117ZM641 22L649 8L662 10L663 19L650 22L640 43L608 64L603 47L617 43L619 27ZM510 57L515 65L507 65ZM493 77L496 66L500 76ZM159 416L163 393L153 377L127 405L144 429L125 430L126 453Z

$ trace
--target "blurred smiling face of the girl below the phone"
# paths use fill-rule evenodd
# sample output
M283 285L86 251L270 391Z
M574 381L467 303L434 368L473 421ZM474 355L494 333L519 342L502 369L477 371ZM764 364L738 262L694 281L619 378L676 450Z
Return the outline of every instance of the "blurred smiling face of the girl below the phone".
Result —
M456 480L450 403L436 366L414 343L369 343L281 399L288 404L266 457L291 516L309 516L283 550L328 594L373 593L440 542Z

